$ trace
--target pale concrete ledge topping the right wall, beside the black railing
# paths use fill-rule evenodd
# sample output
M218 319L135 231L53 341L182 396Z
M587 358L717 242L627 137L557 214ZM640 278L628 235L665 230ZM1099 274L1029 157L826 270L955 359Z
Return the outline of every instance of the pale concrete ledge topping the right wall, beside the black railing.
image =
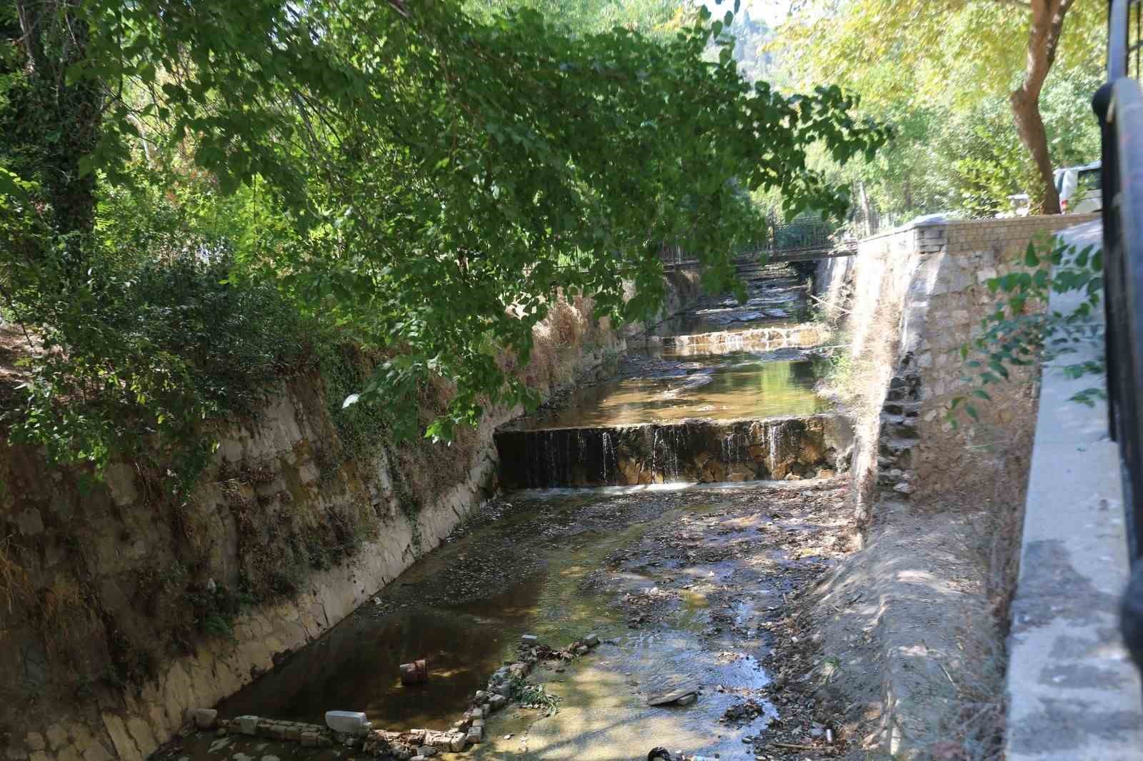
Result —
M1061 233L1101 242L1098 222ZM1079 294L1053 294L1070 312ZM1093 315L1102 323L1103 311ZM1070 401L1093 385L1060 366L1098 355L1102 338L1044 368L1007 674L1009 761L1143 759L1143 690L1119 634L1128 577L1119 450L1104 402Z

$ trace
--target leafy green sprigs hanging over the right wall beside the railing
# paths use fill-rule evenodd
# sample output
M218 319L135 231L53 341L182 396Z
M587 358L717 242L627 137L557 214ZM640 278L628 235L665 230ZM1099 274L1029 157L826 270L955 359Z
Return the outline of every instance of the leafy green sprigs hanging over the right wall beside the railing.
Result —
M1060 239L1033 240L1009 272L991 278L989 290L999 296L996 310L981 320L980 335L960 350L968 370L967 383L976 386L967 395L954 396L946 418L956 426L961 410L977 419L974 400L991 401L988 387L1012 379L1013 370L1038 366L1074 351L1078 342L1098 331L1090 321L1101 309L1103 253L1092 246L1077 249ZM1077 291L1080 303L1069 312L1047 310L1052 294ZM1101 375L1104 361L1064 365L1071 378ZM1102 398L1098 387L1086 388L1073 401L1090 404Z

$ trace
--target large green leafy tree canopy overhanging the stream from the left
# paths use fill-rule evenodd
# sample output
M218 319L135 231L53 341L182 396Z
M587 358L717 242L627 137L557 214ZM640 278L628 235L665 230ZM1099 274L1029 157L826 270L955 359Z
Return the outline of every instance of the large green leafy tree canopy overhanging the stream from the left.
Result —
M842 189L808 168L807 151L845 162L884 139L837 88L751 86L729 41L704 58L729 13L702 10L650 39L572 33L533 9L477 21L450 0L39 7L55 16L29 43L31 65L9 69L9 103L55 87L56 66L62 86L47 101L91 94L97 118L49 110L27 142L90 129L91 150L72 158L75 177L98 178L97 197L205 183L216 213L248 215L225 241L230 282L272 283L390 357L359 398L383 402L399 434L414 432L415 392L433 374L456 394L429 435L449 436L489 402L526 400L497 355L527 360L560 290L593 295L600 314L653 313L663 241L695 251L711 288L730 285L730 256L760 224L746 191L838 209ZM79 277L51 265L67 207L48 162L22 147L0 155L13 193L3 234L18 242L0 253L16 273L14 312L51 323L65 354L93 367L153 360L117 343L105 298L114 241L80 238ZM146 399L139 407L155 417ZM191 407L189 418L208 412Z

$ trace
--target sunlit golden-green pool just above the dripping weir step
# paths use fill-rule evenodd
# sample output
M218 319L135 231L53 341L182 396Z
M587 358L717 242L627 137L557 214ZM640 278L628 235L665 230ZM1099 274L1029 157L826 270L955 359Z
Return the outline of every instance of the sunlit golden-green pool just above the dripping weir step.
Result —
M614 427L641 423L766 419L830 409L814 392L810 360L766 361L736 352L680 362L671 375L622 378L581 388L557 410L519 422L523 430Z

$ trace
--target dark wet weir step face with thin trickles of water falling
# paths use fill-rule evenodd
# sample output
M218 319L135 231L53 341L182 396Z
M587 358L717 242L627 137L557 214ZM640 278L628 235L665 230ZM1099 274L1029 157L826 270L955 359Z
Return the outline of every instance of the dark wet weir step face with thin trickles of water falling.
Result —
M814 478L844 470L852 442L850 420L832 412L496 433L501 481L514 489Z

